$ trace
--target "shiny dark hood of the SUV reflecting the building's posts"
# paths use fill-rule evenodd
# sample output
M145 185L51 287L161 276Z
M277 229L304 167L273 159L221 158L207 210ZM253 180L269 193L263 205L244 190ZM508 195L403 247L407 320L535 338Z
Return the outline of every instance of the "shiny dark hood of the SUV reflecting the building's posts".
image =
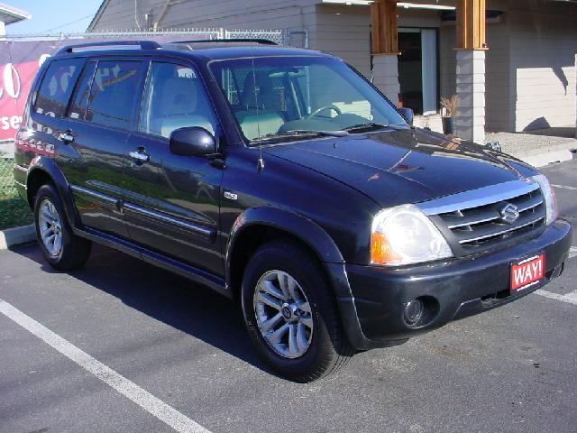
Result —
M480 145L415 129L285 143L263 151L341 181L380 207L522 178Z

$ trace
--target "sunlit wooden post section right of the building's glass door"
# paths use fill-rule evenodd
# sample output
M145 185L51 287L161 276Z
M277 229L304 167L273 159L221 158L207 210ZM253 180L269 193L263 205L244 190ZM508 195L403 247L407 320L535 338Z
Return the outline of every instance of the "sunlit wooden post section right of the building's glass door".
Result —
M485 0L457 3L457 50L485 50Z

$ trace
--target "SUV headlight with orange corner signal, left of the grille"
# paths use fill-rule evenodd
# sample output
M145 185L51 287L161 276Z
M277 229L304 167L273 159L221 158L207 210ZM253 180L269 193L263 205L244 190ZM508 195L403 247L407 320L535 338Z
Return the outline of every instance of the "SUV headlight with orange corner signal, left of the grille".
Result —
M372 220L372 264L398 266L452 256L443 235L414 205L381 210Z

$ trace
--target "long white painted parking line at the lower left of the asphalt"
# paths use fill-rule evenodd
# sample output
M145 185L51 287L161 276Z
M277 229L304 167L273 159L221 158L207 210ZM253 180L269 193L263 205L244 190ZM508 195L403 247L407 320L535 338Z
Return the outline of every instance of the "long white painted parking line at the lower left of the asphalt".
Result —
M60 354L80 365L87 372L94 374L98 379L110 385L124 397L138 404L143 410L147 410L171 428L183 433L210 433L209 430L197 424L192 419L172 408L164 401L160 401L150 392L143 390L137 384L129 381L120 373L114 372L110 367L102 364L76 345L69 343L61 336L50 331L33 318L26 316L3 299L0 299L0 312L7 318L11 318L18 325L39 337L42 341L58 350Z

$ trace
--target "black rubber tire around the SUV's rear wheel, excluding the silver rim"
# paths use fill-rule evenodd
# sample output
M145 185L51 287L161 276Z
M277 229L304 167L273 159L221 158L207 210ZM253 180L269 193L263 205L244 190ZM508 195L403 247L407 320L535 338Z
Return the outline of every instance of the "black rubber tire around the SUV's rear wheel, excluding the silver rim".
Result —
M59 230L62 242L60 252L56 254L48 251L41 238L41 205L46 203L47 200L54 206L58 217L60 217ZM34 198L34 226L36 226L36 237L38 238L42 255L51 267L59 271L72 271L81 268L87 263L92 243L87 239L74 235L70 228L66 212L64 211L60 195L51 184L43 185Z

